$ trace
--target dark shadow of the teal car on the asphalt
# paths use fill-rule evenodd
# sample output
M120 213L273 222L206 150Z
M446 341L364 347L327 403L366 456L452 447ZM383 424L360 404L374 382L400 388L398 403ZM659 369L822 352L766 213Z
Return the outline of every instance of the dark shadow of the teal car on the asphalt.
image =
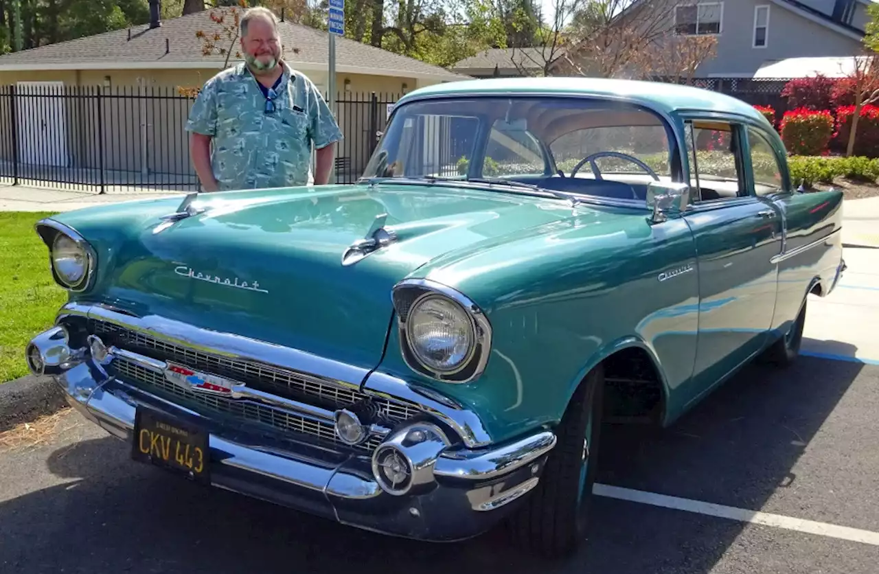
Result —
M760 510L796 483L796 462L862 368L810 357L747 367L669 429L608 426L599 483ZM128 453L106 437L51 454L49 470L67 483L0 503L0 570L702 574L744 528L596 498L585 549L550 563L513 548L503 529L407 541L200 487Z

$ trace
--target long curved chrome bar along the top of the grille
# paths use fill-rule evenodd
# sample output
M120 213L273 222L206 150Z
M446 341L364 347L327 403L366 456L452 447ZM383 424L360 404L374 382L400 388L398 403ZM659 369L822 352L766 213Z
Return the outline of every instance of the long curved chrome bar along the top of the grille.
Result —
M175 345L201 349L230 359L267 363L318 378L330 385L357 389L366 395L413 403L425 413L438 418L452 428L466 447L484 447L492 442L482 419L461 403L442 396L432 389L422 389L418 385L380 371L355 367L309 352L245 338L233 333L202 329L163 316L134 316L129 311L102 303L69 302L59 310L55 323L58 324L69 316L113 323Z

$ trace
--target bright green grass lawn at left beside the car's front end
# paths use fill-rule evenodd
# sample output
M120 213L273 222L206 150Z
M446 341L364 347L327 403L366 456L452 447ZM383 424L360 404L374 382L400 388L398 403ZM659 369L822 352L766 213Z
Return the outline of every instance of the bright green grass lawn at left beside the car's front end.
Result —
M0 383L27 374L25 345L54 323L67 293L33 224L50 213L0 212Z

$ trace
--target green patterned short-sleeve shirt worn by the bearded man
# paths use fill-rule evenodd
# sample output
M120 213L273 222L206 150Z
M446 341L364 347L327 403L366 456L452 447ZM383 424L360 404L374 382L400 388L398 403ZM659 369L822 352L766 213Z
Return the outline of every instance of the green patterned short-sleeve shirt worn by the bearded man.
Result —
M241 63L207 80L195 98L186 130L210 135L211 167L221 191L307 185L311 145L342 139L315 84L286 63L275 98L266 96ZM271 95L271 94L270 94Z

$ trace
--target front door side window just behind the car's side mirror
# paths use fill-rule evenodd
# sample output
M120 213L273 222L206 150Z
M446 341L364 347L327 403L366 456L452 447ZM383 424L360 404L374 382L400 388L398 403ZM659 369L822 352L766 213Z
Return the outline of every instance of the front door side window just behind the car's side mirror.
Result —
M737 126L728 122L686 122L690 185L699 201L731 200L748 195L739 134Z

